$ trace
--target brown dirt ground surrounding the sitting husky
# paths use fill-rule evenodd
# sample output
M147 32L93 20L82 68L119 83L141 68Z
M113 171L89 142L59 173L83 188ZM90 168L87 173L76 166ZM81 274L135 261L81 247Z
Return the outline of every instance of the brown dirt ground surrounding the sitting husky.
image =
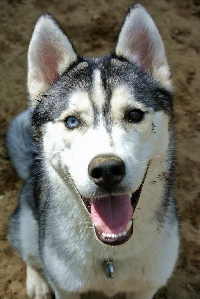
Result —
M155 298L200 298L200 1L144 0L164 39L175 87L177 201L182 245L177 269ZM4 138L10 120L26 107L27 50L38 16L51 12L80 54L99 56L116 41L129 0L1 0L0 2L0 299L25 299L25 265L7 242L8 217L22 181ZM89 295L87 298L103 298Z

